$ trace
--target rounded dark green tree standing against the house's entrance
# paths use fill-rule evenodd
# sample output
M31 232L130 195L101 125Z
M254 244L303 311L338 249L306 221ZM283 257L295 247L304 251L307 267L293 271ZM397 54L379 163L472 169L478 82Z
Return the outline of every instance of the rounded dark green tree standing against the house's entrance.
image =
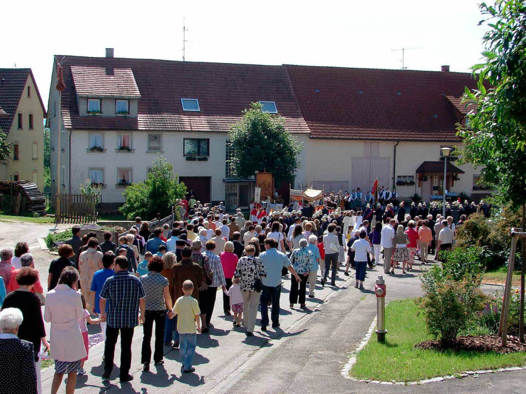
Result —
M261 110L252 102L243 117L229 131L234 153L230 159L237 177L248 178L256 171L274 173L277 182L291 181L299 168L302 142L285 129L283 118Z

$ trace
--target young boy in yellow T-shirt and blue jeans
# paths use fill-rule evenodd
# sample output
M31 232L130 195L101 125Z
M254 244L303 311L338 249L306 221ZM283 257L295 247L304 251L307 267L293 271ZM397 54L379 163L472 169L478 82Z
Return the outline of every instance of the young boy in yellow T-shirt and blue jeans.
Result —
M196 324L197 332L201 332L201 320L199 314L199 303L192 297L194 291L194 284L192 281L183 282L183 297L177 298L174 308L168 314L170 319L177 317L177 332L179 333L179 354L181 355L181 363L183 364L183 372L194 372L196 369L192 367L192 361L196 354Z

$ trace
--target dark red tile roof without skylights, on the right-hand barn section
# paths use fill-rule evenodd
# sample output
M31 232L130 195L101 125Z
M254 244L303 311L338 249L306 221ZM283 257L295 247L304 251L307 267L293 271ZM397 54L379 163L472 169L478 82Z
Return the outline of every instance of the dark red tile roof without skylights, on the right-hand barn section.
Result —
M476 86L459 72L286 67L311 138L457 141L446 96Z

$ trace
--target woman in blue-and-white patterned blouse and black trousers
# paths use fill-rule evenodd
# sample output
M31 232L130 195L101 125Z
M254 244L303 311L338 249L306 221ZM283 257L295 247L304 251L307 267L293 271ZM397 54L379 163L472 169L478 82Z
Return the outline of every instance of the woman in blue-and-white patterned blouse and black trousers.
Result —
M305 238L300 239L298 244L299 248L294 250L290 255L290 264L294 267L301 282L298 283L294 276L290 278L289 302L291 308L294 307L294 304L299 303L301 309L306 309L305 291L307 288L307 279L312 269L313 256L307 249L308 241Z

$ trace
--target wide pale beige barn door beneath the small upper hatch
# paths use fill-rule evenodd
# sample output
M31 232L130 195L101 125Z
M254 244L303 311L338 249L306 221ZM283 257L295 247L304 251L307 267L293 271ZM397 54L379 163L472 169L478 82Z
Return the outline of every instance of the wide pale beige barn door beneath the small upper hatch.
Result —
M351 189L360 188L363 193L371 189L378 178L380 186L389 187L389 158L353 158Z

